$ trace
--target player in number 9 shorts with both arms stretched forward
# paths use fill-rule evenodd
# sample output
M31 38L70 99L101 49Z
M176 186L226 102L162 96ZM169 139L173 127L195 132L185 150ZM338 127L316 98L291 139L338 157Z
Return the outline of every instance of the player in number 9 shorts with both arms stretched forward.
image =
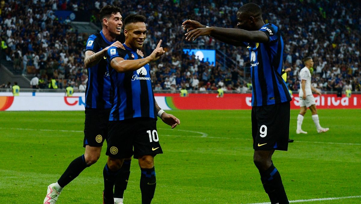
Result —
M283 40L279 27L265 24L260 6L248 3L238 9L237 27L208 27L197 21L184 21L186 40L211 36L234 46L247 47L252 78L253 161L272 204L288 204L280 174L273 165L275 150L288 149L290 101L281 77Z

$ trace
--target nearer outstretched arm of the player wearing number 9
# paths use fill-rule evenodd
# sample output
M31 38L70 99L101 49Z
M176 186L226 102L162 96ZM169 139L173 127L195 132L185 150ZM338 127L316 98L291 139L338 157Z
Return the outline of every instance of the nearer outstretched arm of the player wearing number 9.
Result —
M235 28L218 28L218 27L208 27L208 28L196 28L192 31L184 34L186 40L193 41L199 36L214 36L217 40L226 42L227 40L235 42L268 42L268 36L262 31L246 31L243 29ZM242 44L239 44L241 46Z

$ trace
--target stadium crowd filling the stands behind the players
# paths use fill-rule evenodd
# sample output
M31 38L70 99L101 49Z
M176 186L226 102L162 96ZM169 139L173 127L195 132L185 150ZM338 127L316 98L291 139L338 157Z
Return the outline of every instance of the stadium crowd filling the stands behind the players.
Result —
M246 2L243 2L246 3ZM249 54L242 47L201 37L194 42L184 40L181 24L185 17L197 19L208 26L236 25L236 12L242 5L234 1L123 1L103 0L9 0L0 1L0 36L4 59L13 62L15 71L39 73L39 87L58 87L70 83L84 87L87 73L83 64L88 34L78 33L70 19L55 16L55 10L92 10L97 13L107 4L122 8L123 17L139 12L147 17L147 40L143 52L150 54L162 39L166 55L152 64L155 90L177 91L225 90L245 92L250 89ZM359 1L292 0L266 1L263 5L265 23L282 29L284 40L284 69L291 68L287 84L299 89L298 72L304 67L302 59L312 56L315 62L313 86L334 91L352 87L361 91ZM100 22L97 22L100 25ZM99 26L100 27L100 26ZM217 49L237 64L216 63L214 66L183 53L183 48ZM247 86L248 85L248 86Z

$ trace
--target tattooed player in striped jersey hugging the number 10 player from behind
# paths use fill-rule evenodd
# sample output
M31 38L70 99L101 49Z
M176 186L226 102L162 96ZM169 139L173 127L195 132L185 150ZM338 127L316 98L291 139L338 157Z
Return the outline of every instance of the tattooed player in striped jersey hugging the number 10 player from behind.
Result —
M74 159L56 183L48 186L44 204L55 204L62 189L73 181L85 168L97 162L101 148L108 135L110 113L110 77L105 53L111 46L124 46L121 9L117 6L104 6L99 12L102 30L89 36L84 65L88 71L85 92L85 126L83 147L85 153ZM140 52L140 54L142 54ZM115 204L123 204L123 193L130 174L130 159L127 159L114 188ZM113 203L114 204L114 203Z

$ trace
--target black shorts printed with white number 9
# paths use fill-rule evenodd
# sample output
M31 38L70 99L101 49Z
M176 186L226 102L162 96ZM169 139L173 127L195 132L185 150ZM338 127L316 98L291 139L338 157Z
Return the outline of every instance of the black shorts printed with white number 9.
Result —
M255 150L288 149L290 102L252 107L252 137Z

